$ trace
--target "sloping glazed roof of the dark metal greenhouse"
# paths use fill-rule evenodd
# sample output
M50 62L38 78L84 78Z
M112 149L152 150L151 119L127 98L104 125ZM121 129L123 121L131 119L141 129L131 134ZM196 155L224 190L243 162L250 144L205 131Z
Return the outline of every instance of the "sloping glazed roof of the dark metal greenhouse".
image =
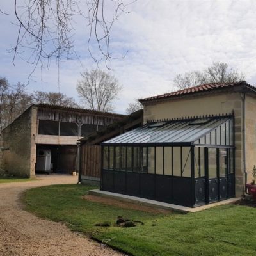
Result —
M214 131L228 120L230 117L226 116L204 118L202 122L179 120L149 123L107 140L102 145L175 145L179 143L193 145L195 141Z

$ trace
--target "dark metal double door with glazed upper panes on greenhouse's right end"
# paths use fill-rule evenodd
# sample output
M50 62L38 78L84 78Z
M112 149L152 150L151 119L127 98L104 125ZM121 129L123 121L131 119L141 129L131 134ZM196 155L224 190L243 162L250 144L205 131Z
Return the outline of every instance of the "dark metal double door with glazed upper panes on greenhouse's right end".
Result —
M206 202L212 203L228 198L227 149L205 148Z

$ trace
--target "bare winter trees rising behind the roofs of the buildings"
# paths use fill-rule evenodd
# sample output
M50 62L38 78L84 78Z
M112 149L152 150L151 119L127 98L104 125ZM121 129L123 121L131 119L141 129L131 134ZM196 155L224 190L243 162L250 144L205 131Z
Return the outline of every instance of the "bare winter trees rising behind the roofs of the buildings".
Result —
M243 81L245 75L231 68L227 63L212 63L203 71L186 72L174 77L177 89L184 89L205 83ZM118 98L122 86L108 72L84 70L77 81L77 94L85 108L95 111L113 111L113 101ZM0 132L32 104L51 104L81 108L76 100L60 92L35 91L28 93L21 83L10 85L6 77L0 77ZM129 103L126 109L131 114L142 106L138 100Z

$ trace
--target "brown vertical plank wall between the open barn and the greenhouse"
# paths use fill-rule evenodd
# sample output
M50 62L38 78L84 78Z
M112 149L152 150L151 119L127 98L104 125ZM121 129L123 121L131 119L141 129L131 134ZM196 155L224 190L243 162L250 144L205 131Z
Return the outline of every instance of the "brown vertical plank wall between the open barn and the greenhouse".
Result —
M81 146L81 175L100 178L101 146Z

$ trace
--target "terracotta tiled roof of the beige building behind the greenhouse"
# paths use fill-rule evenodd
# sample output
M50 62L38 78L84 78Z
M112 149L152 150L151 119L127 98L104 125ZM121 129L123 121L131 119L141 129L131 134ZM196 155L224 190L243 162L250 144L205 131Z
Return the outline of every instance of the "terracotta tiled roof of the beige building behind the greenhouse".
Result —
M254 86L247 84L246 81L232 82L232 83L209 83L209 84L201 84L201 85L191 87L191 88L186 88L186 89L179 90L176 92L170 92L170 93L165 93L162 95L156 95L156 96L140 99L139 101L141 103L143 103L143 102L148 102L151 100L161 100L161 99L168 99L171 97L191 95L192 93L211 92L213 90L232 88L234 86L248 86L249 88L255 89Z

